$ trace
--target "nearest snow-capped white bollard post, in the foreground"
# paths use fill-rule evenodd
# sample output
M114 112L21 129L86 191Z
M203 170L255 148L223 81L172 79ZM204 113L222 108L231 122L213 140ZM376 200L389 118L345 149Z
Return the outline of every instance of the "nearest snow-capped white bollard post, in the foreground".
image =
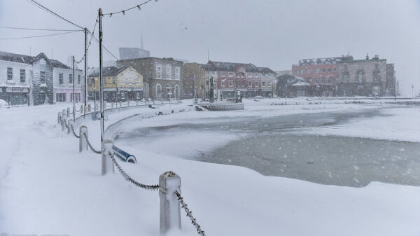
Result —
M181 178L174 172L159 176L160 235L170 229L181 229L181 208L175 190L181 193Z

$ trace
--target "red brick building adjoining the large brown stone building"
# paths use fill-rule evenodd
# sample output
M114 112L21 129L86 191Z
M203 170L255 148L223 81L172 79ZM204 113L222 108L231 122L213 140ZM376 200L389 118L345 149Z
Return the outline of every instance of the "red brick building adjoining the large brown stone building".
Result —
M337 62L341 60L342 57L302 59L292 65L292 75L310 84L308 97L332 97L336 90Z

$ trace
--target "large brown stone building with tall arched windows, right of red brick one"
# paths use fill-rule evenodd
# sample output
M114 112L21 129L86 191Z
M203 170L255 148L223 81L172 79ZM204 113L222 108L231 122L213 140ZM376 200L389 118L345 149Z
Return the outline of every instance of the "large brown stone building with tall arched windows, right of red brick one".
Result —
M365 60L353 60L344 57L337 62L337 95L385 96L386 95L386 59L378 55Z

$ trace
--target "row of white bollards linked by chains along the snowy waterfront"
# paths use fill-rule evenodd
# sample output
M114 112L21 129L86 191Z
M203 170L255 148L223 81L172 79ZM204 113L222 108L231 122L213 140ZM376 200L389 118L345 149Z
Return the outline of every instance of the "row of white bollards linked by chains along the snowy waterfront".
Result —
M138 103L137 103L138 104ZM127 102L127 106L130 105L130 102ZM74 130L74 120L69 119L69 116L73 112L80 112L83 113L84 109L87 111L90 111L90 106L87 108L84 108L83 105L80 106L80 109L78 111L70 111L68 108L67 110L63 110L58 113L57 116L57 123L59 125L62 125L62 130L64 128L67 129L67 133L73 133L73 136L79 139L79 152L82 151L88 151L89 148L91 151L97 154L102 155L102 175L113 173L114 167L118 169L118 172L123 176L123 178L130 183L132 183L134 186L137 186L139 188L145 189L145 190L159 190L159 196L160 196L160 235L166 235L167 232L172 228L179 228L181 229L181 208L183 208L186 211L186 216L191 220L191 223L195 226L197 229L197 233L199 235L205 236L204 230L201 229L201 226L197 223L197 220L193 217L193 212L190 211L188 208L188 205L184 202L183 197L181 196L181 178L178 176L178 174L175 174L174 172L165 172L159 176L159 184L155 185L148 185L141 183L130 174L127 174L123 167L120 166L120 164L117 162L115 156L122 158L123 160L126 160L127 162L133 162L137 163L136 158L134 155L130 155L129 153L123 151L122 149L116 147L113 145L113 141L111 140L105 140L102 143L102 147L99 150L94 148L89 140L89 136L87 133L87 127L85 125L80 125L78 129L78 134L76 134L76 131ZM184 110L180 110L184 111ZM92 114L95 114L96 112L90 112ZM167 113L166 115L169 115L171 113L174 113L174 110L172 112ZM87 113L89 114L89 113ZM163 115L163 113L160 111L156 114L156 116ZM83 116L79 116L77 119L81 118ZM153 116L146 116L143 118L151 118ZM181 204L181 207L180 207Z

